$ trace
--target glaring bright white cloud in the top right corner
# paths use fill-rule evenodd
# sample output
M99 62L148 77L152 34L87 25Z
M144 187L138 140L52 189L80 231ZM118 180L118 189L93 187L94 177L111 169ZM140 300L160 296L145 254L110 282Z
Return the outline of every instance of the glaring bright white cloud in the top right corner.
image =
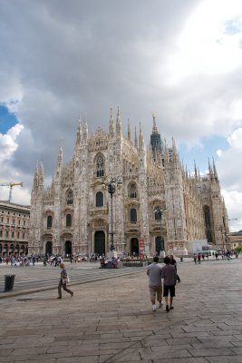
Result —
M231 28L236 31L231 31ZM230 31L229 31L230 30ZM190 15L169 57L169 82L194 74L226 74L242 62L240 0L206 0Z

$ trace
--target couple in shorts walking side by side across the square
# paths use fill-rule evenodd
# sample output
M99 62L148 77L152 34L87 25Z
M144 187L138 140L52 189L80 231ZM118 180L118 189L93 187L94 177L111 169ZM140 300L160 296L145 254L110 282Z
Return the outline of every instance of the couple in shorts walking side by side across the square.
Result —
M175 266L170 264L169 256L164 258L165 266L162 268L158 264L159 258L155 256L153 262L147 268L147 275L150 278L150 301L152 310L156 311L156 297L159 301L159 308L163 305L162 301L162 282L163 282L163 297L166 301L166 311L174 309L172 306L173 298L175 297L175 285L177 281L177 272Z

